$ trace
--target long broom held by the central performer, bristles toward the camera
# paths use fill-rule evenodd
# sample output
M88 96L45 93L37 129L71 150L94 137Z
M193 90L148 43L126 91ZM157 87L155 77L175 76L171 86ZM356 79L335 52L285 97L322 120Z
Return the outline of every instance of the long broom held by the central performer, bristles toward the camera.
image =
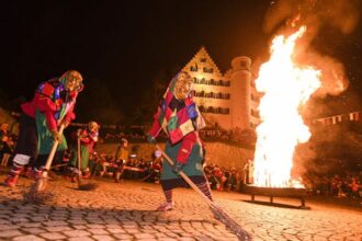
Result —
M165 153L163 150L156 145L156 148L162 153L166 160L173 165L173 161L169 156ZM207 196L190 180L190 177L182 171L180 171L181 177L206 202L211 208L214 217L223 222L239 240L251 240L251 237L246 232L233 218L230 218L219 206L217 206L213 200L208 199Z

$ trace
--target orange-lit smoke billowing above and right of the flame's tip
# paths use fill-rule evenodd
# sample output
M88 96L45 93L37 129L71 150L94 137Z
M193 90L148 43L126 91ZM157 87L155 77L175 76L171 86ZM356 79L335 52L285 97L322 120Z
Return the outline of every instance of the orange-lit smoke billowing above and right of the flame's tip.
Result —
M307 33L297 45L297 62L321 70L321 88L315 96L339 95L349 81L343 65L336 58L321 55L310 43L320 30L331 27L342 35L351 34L359 24L360 0L280 0L272 1L268 10L263 31L289 34L296 27L307 26Z

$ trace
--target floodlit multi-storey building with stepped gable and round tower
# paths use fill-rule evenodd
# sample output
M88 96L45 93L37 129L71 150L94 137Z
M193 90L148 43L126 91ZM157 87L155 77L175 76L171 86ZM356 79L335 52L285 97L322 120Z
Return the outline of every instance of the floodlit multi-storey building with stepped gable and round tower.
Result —
M182 69L194 79L194 100L207 126L244 130L259 124L260 95L250 67L250 58L236 57L223 74L205 47L201 47Z

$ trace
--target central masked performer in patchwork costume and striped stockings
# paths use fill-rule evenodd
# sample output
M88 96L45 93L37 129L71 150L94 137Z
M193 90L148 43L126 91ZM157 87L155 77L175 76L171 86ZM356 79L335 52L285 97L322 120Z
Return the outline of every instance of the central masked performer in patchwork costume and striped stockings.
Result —
M172 209L172 190L186 186L180 176L181 170L212 199L202 168L204 148L197 131L205 123L192 99L192 78L186 72L180 72L171 80L147 136L149 142L156 142L156 137L163 129L168 136L166 153L174 162L173 167L163 162L160 183L166 203L157 210Z

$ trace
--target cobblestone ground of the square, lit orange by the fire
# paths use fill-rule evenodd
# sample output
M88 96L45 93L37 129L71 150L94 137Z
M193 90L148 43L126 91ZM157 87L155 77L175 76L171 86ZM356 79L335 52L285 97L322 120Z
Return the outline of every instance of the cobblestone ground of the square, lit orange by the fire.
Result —
M41 205L22 202L29 180L14 188L0 186L0 240L237 240L192 190L176 190L176 208L161 213L155 211L163 202L159 185L98 184L86 192L64 180L48 182L53 198ZM307 203L310 210L304 210L252 204L237 193L213 195L252 240L362 240L358 208ZM296 199L274 202L298 205Z

